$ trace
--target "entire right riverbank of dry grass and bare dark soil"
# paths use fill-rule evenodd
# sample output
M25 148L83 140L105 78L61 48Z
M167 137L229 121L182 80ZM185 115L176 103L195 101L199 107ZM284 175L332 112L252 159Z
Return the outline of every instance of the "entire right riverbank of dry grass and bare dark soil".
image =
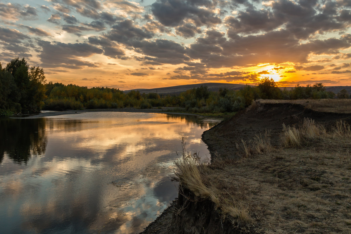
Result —
M207 192L180 176L179 198L163 214L172 219L155 220L143 234L216 233L213 228L220 233L347 233L351 115L345 102L350 101L258 101L204 132L212 164L200 167L198 184ZM293 131L296 142L289 138ZM163 229L155 231L158 226Z

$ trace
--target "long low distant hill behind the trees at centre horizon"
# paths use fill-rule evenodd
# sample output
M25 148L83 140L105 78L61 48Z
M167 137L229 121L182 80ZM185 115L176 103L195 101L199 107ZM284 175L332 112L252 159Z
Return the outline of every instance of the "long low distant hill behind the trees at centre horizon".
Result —
M140 93L179 94L181 92L187 91L188 89L200 87L201 85L207 86L210 91L218 91L219 88L238 90L245 86L245 85L230 84L230 83L199 83L199 84L192 84L192 85L177 85L177 86L162 87L162 88L150 88L150 89L137 88L137 89L125 90L123 92L129 93L130 91L135 90L135 91L139 91Z

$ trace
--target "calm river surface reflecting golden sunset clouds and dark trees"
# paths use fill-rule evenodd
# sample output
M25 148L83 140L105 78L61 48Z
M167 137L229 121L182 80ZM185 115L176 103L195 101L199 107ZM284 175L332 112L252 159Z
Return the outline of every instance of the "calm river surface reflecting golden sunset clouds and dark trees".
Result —
M173 160L209 156L219 119L90 112L0 119L0 233L138 233L178 194Z

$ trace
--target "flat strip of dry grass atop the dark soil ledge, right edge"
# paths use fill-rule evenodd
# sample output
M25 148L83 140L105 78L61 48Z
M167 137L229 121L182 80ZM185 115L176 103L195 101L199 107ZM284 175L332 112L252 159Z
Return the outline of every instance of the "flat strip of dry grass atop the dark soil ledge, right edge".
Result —
M301 99L301 100L268 100L259 99L257 103L293 103L301 104L320 112L351 113L351 99Z

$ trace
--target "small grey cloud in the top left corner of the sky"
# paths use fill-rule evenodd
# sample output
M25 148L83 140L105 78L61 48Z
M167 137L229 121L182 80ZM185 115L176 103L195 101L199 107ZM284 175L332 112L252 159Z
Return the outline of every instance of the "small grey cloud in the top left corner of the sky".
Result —
M0 16L6 20L33 20L37 15L37 9L34 7L0 2Z

